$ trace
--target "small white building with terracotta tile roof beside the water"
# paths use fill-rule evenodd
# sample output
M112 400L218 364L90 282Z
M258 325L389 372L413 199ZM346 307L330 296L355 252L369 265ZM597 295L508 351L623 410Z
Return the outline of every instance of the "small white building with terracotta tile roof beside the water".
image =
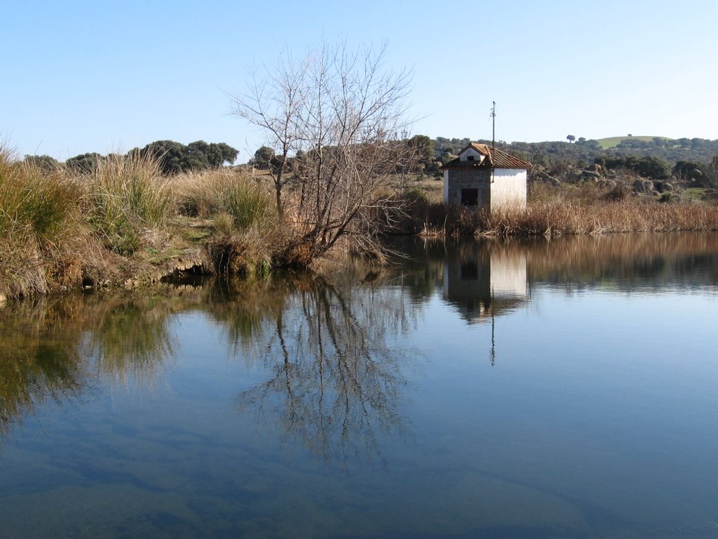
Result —
M531 165L488 144L472 143L444 169L444 204L477 211L526 209Z

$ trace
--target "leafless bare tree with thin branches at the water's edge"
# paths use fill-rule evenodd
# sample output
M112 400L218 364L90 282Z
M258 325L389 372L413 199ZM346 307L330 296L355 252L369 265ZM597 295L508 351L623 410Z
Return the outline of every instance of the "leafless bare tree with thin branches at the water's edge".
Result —
M263 129L276 152L276 205L297 231L290 261L307 263L342 238L369 241L373 207L383 205L377 188L411 159L411 74L386 69L385 58L386 46L350 51L344 42L325 43L300 61L283 57L232 97L233 113ZM301 157L291 167L294 154ZM294 177L288 211L282 190Z

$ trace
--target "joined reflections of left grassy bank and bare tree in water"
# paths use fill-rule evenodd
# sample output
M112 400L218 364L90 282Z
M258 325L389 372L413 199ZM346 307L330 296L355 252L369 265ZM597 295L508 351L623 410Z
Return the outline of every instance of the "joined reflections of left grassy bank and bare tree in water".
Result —
M276 423L289 441L346 462L381 456L376 433L401 432L404 351L397 333L416 307L401 288L353 287L347 275L215 281L156 293L22 303L0 313L0 434L37 405L76 397L111 377L151 386L177 349L174 316L202 308L228 353L270 377L237 397L238 410Z

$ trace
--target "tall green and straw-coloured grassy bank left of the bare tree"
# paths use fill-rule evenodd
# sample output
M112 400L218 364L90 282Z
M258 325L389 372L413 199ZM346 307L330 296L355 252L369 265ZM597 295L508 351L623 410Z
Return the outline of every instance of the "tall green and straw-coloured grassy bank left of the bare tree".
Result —
M192 268L266 272L285 236L273 203L243 172L167 178L138 156L82 172L0 149L0 303Z

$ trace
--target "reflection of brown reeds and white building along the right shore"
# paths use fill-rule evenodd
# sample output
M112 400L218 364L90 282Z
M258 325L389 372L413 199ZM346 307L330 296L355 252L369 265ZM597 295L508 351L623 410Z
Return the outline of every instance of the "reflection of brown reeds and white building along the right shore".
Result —
M442 290L449 303L464 305L462 315L467 321L487 310L492 286L495 299L518 300L516 306L526 303L536 285L572 291L718 284L718 234L607 234L508 241L414 238L395 240L391 247L407 257L397 270L402 285L418 300ZM446 271L449 275L445 276Z

